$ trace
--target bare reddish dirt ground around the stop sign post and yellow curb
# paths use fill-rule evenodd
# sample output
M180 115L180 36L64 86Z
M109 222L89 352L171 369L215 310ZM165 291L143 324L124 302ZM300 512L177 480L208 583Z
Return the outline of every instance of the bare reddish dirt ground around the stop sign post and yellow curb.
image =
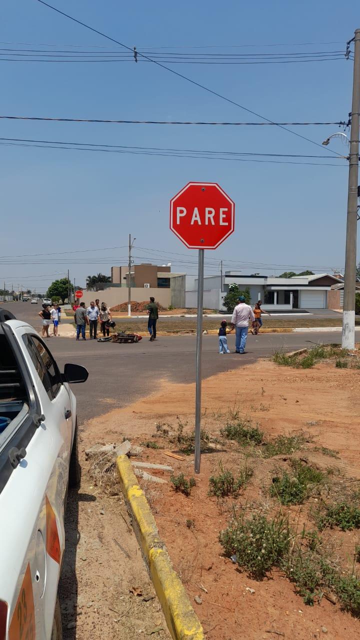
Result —
M195 488L190 497L175 493L169 474L159 472L168 483L147 483L144 489L161 536L209 639L327 637L335 640L341 637L350 640L357 636L359 622L341 609L340 602L333 604L322 596L316 598L313 606L307 606L294 584L277 569L263 580L249 577L249 573L224 557L218 536L234 509L241 511L251 506L250 511L256 513L261 505L266 513L272 513L274 500L269 498L269 483L275 466L284 467L289 458L277 456L263 460L257 454L244 456L234 442L224 441L220 429L226 420L234 416L236 419L250 417L266 440L277 435L305 434L304 446L297 454L299 460L306 460L322 469L323 474L329 474L329 478L335 477L336 483L348 486L360 479L359 381L360 371L335 369L333 363L301 370L277 367L269 361L259 361L204 381L202 425L216 448L202 455L201 474L196 478ZM82 449L99 442L121 442L123 437L136 444L147 442L149 447L159 448L144 448L143 461L170 463L174 474L183 472L190 477L193 456L171 460L165 451L178 449L174 434L176 438L179 425L184 433L193 429L195 387L163 381L158 389L156 394L86 422L81 432ZM333 451L331 457L323 447ZM247 490L235 500L209 497L209 477L218 472L219 462L235 475L244 460L252 466L254 474ZM91 636L95 640L107 640L115 631L118 637L124 623L132 625L131 637L148 633L150 627L161 626L163 618L156 600L141 601L138 612L140 598L129 594L131 587L140 586L142 593L153 595L135 536L125 522L127 515L122 499L104 497L101 489L90 483L86 463L81 491L76 581L70 562L65 568L62 586L65 615L70 624L76 620L74 602L76 591L78 593L78 628L76 636L69 631L65 638ZM305 505L282 510L290 514L291 522L297 519L302 526L309 521L307 508L311 505L316 509L316 504L320 504L317 500L311 497ZM101 511L104 514L101 515ZM68 518L75 520L72 511ZM74 538L74 531L71 535ZM326 540L325 537L324 545L329 546L331 541L341 568L351 570L350 550L358 541L358 529L341 535L336 530L329 532ZM342 556L341 548L347 552ZM124 549L131 561L124 556ZM71 555L71 551L69 553ZM194 601L195 596L201 604ZM126 633L129 636L129 627ZM154 637L166 637L165 632L157 632Z

